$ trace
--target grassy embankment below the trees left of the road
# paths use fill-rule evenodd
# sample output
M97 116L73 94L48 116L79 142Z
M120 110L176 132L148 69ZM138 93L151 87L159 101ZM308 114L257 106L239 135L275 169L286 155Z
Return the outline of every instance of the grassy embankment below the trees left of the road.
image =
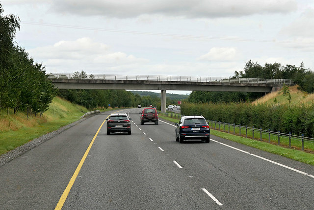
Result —
M88 112L84 107L72 104L64 99L55 97L50 104L49 110L43 117L29 117L26 114L11 112L7 115L6 110L0 112L0 154L13 150L28 141L44 134L59 129L80 119Z

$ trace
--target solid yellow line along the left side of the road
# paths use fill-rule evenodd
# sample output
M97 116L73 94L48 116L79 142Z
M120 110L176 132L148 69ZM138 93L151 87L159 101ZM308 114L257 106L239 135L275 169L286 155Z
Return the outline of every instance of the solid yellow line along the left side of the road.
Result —
M109 115L109 116L110 116L110 115ZM109 116L108 116L108 117L109 117ZM108 118L108 117L107 117L107 118ZM106 118L105 120L107 120L107 118ZM61 209L62 209L63 204L64 204L65 200L67 199L67 197L68 197L68 195L69 195L69 192L70 192L70 190L71 190L71 188L72 188L72 186L73 186L73 184L74 184L74 181L75 181L75 180L77 179L77 177L78 177L78 173L79 173L79 171L80 171L80 169L81 169L81 167L82 167L82 165L83 165L83 163L84 163L84 161L85 161L85 159L86 159L86 157L87 157L87 155L88 155L88 152L89 152L89 150L92 148L92 145L93 145L93 143L94 143L94 141L95 141L95 139L96 139L96 137L97 137L97 135L98 135L100 129L102 128L103 124L105 123L105 120L103 121L103 123L101 124L101 126L98 128L98 131L96 132L96 134L95 134L93 140L91 141L91 143L89 144L87 150L85 151L85 154L83 155L82 159L80 160L77 169L75 170L75 172L74 172L74 174L73 174L71 180L70 180L69 183L68 183L68 186L65 188L65 190L64 190L64 192L63 192L63 194L62 194L62 196L61 196L61 198L60 198L60 200L59 200L59 202L58 202L58 204L57 204L57 206L55 207L54 210L61 210Z

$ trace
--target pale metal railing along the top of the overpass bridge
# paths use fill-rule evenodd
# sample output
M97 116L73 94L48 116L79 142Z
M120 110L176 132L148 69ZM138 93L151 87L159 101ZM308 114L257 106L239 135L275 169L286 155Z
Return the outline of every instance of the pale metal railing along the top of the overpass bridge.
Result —
M50 73L49 79L95 79L95 80L144 80L144 81L177 81L177 82L217 82L217 83L248 83L248 84L286 84L292 85L293 80L260 79L260 78L226 78L226 77L189 77L162 75L119 75L119 74L64 74Z

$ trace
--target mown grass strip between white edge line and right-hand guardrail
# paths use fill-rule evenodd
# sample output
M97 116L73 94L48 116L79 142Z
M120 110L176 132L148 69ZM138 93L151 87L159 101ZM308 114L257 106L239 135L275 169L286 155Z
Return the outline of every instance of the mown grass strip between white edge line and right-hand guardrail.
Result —
M164 117L161 115L159 115L159 117L162 119L165 119L165 120L172 121L172 122L178 122L179 121L177 119L172 119L172 118ZM232 132L233 132L233 130L232 130ZM278 155L281 155L284 157L288 157L290 159L297 160L297 161L300 161L303 163L314 165L314 154L312 154L312 153L307 153L307 152L304 152L301 150L288 149L288 148L284 148L284 147L281 147L278 145L272 145L272 144L269 144L267 142L249 139L249 138L245 138L242 136L237 136L237 135L233 135L230 133L217 131L214 129L210 129L210 134L224 138L224 139L228 139L230 141L234 141L234 142L237 142L237 143L240 143L243 145L247 145L249 147L253 147L253 148L256 148L259 150L267 151L267 152L278 154ZM244 134L245 134L245 130L244 130Z

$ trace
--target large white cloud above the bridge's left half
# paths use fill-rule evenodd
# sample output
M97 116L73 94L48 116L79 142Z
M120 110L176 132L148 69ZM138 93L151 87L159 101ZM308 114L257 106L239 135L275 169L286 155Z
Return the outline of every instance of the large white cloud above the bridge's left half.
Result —
M103 43L84 37L75 41L59 41L50 46L28 51L39 62L44 61L49 72L72 72L76 69L89 69L97 72L104 68L121 67L134 63L146 63L147 59L136 58L122 52L110 52ZM123 69L123 68L121 68Z

